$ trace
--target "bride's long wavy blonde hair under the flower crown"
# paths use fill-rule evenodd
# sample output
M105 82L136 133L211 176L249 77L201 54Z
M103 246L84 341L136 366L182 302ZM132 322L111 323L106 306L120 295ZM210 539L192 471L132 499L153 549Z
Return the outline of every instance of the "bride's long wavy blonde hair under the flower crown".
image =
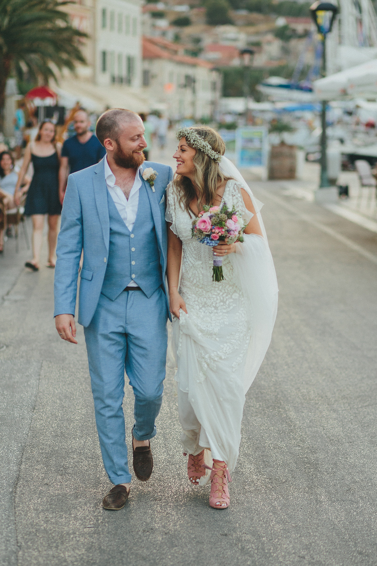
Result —
M224 155L225 144L216 130L201 125L190 126L189 130L194 130L198 136L207 141L216 153ZM186 143L189 147L193 147L187 139ZM196 196L198 197L198 209L200 211L205 204L214 205L218 186L229 179L222 173L219 164L213 158L201 149L194 149L196 149L196 154L193 157L195 165L194 185L197 191L188 177L176 174L174 178L174 184L179 191L179 203L189 214L192 212L190 211L190 203Z

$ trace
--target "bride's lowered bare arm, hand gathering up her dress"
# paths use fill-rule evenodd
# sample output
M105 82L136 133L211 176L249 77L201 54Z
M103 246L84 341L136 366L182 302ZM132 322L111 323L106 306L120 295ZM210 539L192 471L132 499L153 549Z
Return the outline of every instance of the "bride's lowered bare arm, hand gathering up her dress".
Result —
M187 314L185 302L178 293L179 271L182 259L182 242L170 229L170 222L167 223L167 226L166 277L169 288L170 312L179 318L180 308Z

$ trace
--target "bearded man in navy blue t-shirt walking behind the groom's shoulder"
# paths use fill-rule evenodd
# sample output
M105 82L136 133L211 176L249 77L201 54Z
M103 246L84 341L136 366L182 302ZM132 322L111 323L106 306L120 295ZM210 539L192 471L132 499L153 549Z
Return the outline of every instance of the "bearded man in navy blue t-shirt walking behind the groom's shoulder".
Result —
M106 155L106 149L89 130L90 120L83 108L73 116L76 135L64 141L59 169L59 199L63 203L69 173L96 165Z

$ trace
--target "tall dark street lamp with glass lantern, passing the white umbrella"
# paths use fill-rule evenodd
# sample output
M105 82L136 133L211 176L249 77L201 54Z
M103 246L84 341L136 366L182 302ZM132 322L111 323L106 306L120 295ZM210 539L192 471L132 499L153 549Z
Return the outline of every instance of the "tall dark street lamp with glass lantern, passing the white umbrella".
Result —
M326 75L326 36L331 32L338 8L330 2L314 2L310 6L311 16L317 25L318 33L322 36L322 66L323 75ZM319 188L330 187L327 176L327 136L326 136L326 105L327 101L322 100L322 134L320 136L320 184Z

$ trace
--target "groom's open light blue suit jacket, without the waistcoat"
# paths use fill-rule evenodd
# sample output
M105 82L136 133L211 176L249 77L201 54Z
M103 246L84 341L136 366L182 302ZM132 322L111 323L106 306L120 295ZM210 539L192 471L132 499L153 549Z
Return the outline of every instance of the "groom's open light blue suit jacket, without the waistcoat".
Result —
M157 235L162 280L168 303L166 288L167 229L165 222L166 187L173 179L173 170L168 165L145 161L143 170L153 168L158 173L154 181L154 192L149 183L145 185ZM110 221L107 204L107 187L103 159L96 165L72 173L68 177L64 196L62 222L58 236L57 263L55 266L55 310L60 314L75 315L77 275L81 251L84 264L80 277L79 324L90 324L96 311L105 277L109 253Z

